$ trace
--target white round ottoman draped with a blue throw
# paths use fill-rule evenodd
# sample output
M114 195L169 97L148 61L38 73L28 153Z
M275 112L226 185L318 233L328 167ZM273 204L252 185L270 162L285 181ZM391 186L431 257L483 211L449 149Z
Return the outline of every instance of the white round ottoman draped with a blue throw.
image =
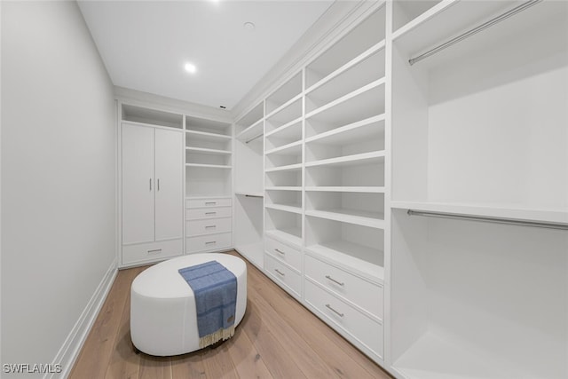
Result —
M199 350L193 290L177 270L217 261L237 278L234 326L247 308L247 265L228 254L193 254L164 261L140 272L130 288L130 336L150 355L179 355Z

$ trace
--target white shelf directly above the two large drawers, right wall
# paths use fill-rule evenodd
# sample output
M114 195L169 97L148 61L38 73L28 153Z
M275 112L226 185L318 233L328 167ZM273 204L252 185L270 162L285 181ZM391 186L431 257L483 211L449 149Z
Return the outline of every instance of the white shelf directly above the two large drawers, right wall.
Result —
M367 280L383 284L383 250L371 249L343 240L313 244L305 249L323 261L339 265L343 270L354 272Z

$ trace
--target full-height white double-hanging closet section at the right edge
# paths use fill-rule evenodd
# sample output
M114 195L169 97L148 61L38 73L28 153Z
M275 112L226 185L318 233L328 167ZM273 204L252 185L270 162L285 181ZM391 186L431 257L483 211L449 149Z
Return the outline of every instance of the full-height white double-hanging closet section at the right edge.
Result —
M393 6L391 367L566 377L568 4L419 3Z

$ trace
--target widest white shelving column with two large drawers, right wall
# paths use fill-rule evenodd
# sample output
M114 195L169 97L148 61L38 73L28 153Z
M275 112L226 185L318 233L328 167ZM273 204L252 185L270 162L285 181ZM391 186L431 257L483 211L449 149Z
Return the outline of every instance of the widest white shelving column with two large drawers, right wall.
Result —
M385 7L305 68L308 307L383 360Z

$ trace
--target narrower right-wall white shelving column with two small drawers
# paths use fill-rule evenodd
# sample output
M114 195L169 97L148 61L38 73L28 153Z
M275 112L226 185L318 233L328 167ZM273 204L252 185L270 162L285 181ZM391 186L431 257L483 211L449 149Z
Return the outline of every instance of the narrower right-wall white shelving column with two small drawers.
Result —
M265 99L264 272L302 296L302 72Z

